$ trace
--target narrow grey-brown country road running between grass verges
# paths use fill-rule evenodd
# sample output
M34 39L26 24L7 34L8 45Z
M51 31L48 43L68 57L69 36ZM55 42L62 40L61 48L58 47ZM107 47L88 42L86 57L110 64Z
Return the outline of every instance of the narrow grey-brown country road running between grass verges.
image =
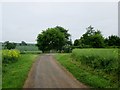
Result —
M87 88L64 69L52 54L43 54L33 64L23 88Z

